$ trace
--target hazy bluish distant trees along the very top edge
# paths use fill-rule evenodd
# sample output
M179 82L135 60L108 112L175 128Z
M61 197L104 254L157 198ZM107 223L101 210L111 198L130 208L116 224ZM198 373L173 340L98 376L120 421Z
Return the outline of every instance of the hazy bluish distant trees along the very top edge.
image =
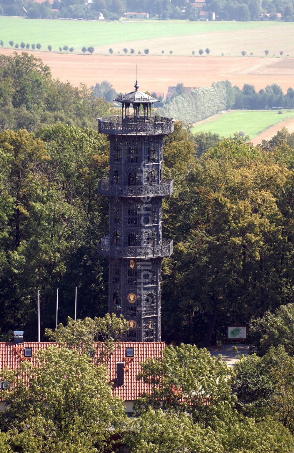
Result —
M28 15L30 18L98 19L102 12L105 19L119 19L127 11L143 11L161 19L197 20L198 9L191 3L186 0L93 0L85 4L84 0L54 0L51 5L48 1L0 0L0 14ZM276 19L276 13L280 13L284 20L293 20L293 0L207 0L205 9L215 11L217 17L223 20L256 20L261 13L270 13L271 19Z

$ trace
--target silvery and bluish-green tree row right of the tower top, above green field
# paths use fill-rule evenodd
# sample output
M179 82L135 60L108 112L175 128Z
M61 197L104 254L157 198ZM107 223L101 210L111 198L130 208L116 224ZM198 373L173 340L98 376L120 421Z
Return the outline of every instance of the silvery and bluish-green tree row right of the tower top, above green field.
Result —
M223 110L259 110L272 107L294 108L293 88L288 88L284 95L280 85L272 83L256 92L253 85L245 83L240 90L226 80L213 83L211 87L195 88L190 93L185 92L183 83L178 83L175 93L161 101L157 111L161 115L195 123Z

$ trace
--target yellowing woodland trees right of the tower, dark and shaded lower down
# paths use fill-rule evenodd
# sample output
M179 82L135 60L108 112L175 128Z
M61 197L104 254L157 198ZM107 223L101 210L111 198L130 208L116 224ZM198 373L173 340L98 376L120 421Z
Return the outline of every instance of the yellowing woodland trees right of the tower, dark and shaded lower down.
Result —
M181 187L164 205L164 234L176 245L162 270L163 335L168 341L209 344L225 338L229 319L248 322L252 313L262 316L293 298L291 214L283 207L291 197L293 149L282 142L280 148L273 145L273 153L236 137L219 142L184 170L174 160L169 164L166 143L171 171L165 167L165 176L180 178Z

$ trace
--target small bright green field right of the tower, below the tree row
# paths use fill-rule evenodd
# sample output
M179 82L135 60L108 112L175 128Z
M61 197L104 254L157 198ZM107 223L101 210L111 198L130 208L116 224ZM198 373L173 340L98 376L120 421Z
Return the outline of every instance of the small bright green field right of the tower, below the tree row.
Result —
M251 139L270 126L294 116L294 110L235 110L218 114L195 123L192 132L213 132L222 137L230 137L241 130Z

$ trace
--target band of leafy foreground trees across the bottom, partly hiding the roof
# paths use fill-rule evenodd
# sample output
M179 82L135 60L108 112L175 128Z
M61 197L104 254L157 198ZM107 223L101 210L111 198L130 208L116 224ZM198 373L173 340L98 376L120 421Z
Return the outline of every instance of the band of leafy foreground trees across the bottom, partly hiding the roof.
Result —
M19 372L1 371L0 397L8 403L0 413L1 453L118 453L119 444L130 453L289 453L293 317L288 304L252 322L259 355L241 358L236 370L206 349L167 346L142 364L138 379L152 390L135 401L132 418L112 395L105 366L126 321L69 318L67 327L47 331L60 347L41 350L38 367L23 361ZM94 341L101 340L97 358Z

